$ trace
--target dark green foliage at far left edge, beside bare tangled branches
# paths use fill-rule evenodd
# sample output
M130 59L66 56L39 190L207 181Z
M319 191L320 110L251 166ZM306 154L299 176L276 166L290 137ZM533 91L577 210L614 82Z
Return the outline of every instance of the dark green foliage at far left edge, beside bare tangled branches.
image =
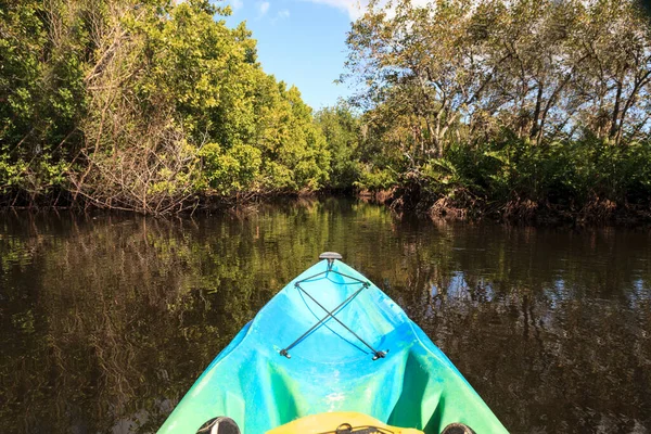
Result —
M56 1L0 9L0 195L48 195L66 184L86 108L81 14Z

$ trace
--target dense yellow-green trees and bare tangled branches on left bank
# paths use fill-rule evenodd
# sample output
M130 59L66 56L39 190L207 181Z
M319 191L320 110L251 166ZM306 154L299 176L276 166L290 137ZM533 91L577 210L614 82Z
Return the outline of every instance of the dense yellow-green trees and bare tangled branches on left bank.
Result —
M316 190L329 152L298 90L265 74L230 10L4 0L0 192L161 214L199 193Z

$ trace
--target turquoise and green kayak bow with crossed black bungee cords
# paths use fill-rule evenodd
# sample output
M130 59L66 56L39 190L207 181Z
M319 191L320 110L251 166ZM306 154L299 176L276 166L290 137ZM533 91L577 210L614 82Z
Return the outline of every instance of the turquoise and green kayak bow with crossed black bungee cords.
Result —
M507 433L393 299L341 255L320 258L244 326L158 433L196 433L207 421L226 418L243 434L289 434L301 418L323 413L359 413L426 434L450 424ZM343 419L340 425L350 430L301 432L357 432Z

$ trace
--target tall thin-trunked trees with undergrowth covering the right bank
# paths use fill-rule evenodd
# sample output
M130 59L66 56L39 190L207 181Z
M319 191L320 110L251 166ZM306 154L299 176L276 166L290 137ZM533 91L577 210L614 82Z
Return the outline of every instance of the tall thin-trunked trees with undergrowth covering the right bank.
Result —
M373 1L360 183L433 214L649 216L651 26L629 0Z

